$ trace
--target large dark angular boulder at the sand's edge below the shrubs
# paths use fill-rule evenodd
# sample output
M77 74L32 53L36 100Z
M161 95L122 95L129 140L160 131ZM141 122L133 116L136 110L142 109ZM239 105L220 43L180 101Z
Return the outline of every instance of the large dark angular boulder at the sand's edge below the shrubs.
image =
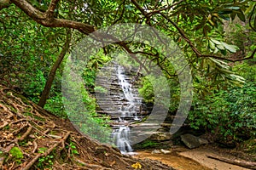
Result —
M201 146L201 144L208 143L208 141L206 139L201 139L192 134L183 134L183 135L181 135L181 139L182 139L183 143L189 147L189 149L194 149L194 148Z

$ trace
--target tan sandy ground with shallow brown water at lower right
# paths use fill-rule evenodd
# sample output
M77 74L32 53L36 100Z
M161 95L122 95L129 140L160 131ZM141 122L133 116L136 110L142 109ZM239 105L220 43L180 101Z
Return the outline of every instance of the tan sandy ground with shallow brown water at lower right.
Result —
M152 154L152 150L138 151L135 157L148 158L165 163L177 170L247 170L223 161L217 161L207 156L223 155L212 148L201 147L194 150L185 148L172 149L169 154ZM230 155L223 155L232 159ZM236 159L236 157L234 157Z

